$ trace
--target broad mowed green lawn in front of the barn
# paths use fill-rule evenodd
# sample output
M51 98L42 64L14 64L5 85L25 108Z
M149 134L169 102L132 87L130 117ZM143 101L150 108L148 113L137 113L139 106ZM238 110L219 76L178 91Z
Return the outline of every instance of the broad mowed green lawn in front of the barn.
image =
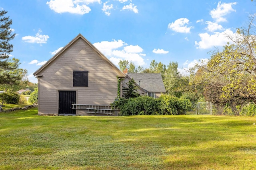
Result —
M0 113L0 169L252 170L256 117Z

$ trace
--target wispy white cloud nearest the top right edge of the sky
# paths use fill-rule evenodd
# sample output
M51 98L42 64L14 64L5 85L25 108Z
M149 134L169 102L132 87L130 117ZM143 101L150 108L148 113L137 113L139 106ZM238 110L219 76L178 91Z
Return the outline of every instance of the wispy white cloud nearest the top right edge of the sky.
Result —
M221 3L221 1L219 1L217 8L210 11L210 15L216 22L227 21L224 16L226 16L230 12L236 12L236 10L232 8L232 5L236 5L236 2Z

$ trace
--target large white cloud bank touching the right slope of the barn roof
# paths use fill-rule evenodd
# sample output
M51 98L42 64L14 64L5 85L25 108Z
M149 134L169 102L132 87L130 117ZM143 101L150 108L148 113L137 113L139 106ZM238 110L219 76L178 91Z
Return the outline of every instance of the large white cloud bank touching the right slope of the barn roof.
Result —
M146 55L141 53L143 49L138 45L127 45L122 40L102 41L93 45L116 65L120 60L132 61L135 65L141 66L145 64L142 56Z

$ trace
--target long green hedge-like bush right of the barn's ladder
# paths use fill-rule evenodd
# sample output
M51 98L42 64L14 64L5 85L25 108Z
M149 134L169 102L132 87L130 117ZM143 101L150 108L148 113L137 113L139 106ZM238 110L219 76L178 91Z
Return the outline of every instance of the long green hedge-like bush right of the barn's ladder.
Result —
M120 109L120 116L126 115L178 115L185 114L191 107L188 99L163 95L161 98L140 96L138 98L120 98L112 103Z

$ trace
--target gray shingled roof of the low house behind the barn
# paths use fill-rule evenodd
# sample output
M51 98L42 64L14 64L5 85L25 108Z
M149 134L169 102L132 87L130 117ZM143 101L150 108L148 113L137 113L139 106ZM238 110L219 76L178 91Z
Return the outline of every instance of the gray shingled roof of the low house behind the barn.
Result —
M128 73L146 92L166 92L161 73Z

